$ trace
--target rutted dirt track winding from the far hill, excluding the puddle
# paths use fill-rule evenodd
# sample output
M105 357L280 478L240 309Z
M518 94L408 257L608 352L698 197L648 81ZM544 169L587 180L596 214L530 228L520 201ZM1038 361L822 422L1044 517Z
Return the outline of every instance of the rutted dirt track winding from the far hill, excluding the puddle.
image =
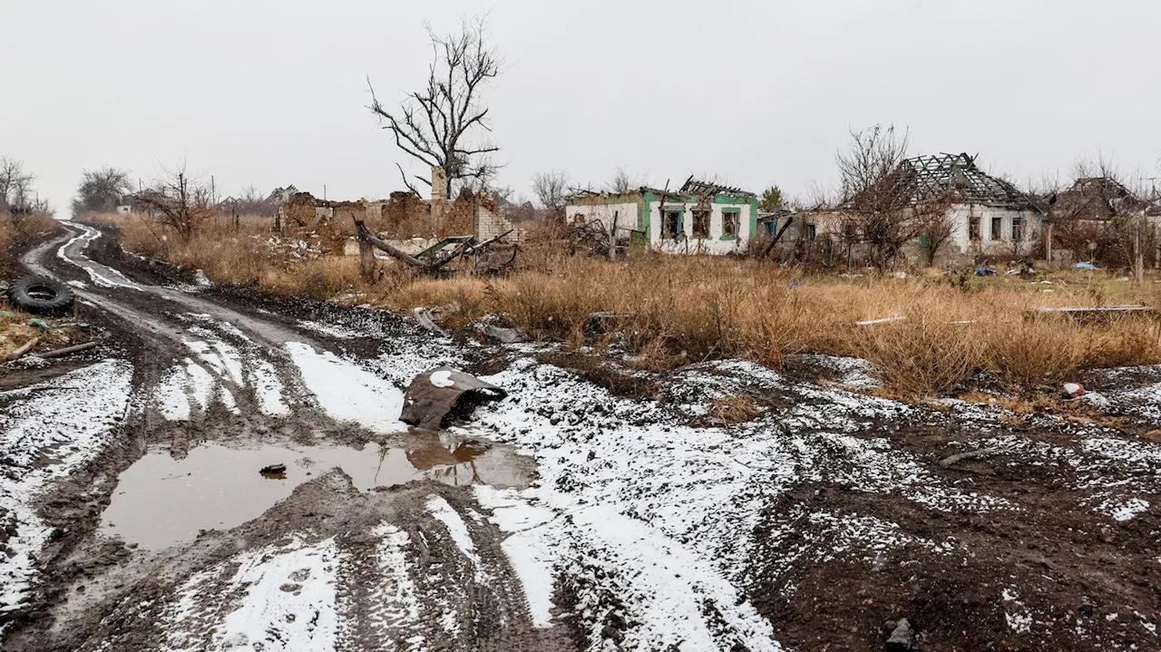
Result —
M100 231L66 229L23 261L35 273L87 275L79 299L128 342L132 407L84 473L41 500L68 534L43 551L35 600L0 630L6 650L560 649L557 633L532 628L497 528L464 507L469 488L424 480L360 492L336 470L259 519L173 548L98 533L117 473L158 444L180 457L208 441L361 445L411 435L397 421L399 389L336 356L318 333L192 288L130 280L86 255ZM62 508L85 491L80 513Z

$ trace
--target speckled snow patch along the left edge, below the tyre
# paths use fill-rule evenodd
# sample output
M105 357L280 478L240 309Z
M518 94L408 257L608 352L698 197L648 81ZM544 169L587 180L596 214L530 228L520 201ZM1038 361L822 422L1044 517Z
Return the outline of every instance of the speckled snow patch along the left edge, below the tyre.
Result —
M36 573L50 528L33 505L48 483L101 452L129 408L132 367L109 360L52 381L0 393L0 611L17 607Z

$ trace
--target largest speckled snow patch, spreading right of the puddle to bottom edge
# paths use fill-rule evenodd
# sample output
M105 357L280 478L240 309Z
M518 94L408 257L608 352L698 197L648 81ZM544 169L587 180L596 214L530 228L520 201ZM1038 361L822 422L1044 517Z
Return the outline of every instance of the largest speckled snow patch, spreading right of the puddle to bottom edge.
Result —
M700 370L706 378L685 372L683 383L708 386L708 396L728 392L734 383L792 391L760 365L711 367ZM511 441L539 462L538 486L477 490L477 498L513 533L505 551L541 624L550 609L549 578L564 572L577 578L582 611L597 613L619 596L625 618L639 623L626 632L629 645L685 640L683 649L697 650L728 646L736 637L751 650L774 650L770 624L742 600L737 582L752 562L760 512L776 497L806 481L901 494L946 512L1011 508L1002 498L946 485L887 440L849 434L865 430L870 419L910 410L886 399L795 385L795 400L783 414L730 428L692 428L656 403L615 398L531 360L484 379L510 394L477 411L479 426L470 429ZM907 539L893 523L874 519L812 517L829 520L842 534L828 538L831 548L822 555L909 544L957 549ZM713 622L729 626L723 633Z

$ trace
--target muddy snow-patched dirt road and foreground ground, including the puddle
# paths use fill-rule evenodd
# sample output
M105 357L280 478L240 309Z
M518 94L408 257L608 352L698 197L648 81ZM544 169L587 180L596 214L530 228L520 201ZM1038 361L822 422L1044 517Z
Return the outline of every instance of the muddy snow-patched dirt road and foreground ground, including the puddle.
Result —
M111 336L0 371L23 379L0 391L5 650L881 650L900 618L915 650L1161 644L1159 369L1090 381L1089 420L877 398L822 356L641 400L551 347L67 231L24 265ZM409 432L403 387L441 364L509 397ZM740 396L757 418L708 418Z

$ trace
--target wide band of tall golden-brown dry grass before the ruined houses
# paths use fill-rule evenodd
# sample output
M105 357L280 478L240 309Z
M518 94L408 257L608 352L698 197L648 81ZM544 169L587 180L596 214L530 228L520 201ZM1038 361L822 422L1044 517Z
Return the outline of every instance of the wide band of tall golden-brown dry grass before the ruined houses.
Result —
M1088 367L1161 362L1154 318L1104 324L1025 318L1027 307L1040 305L1158 306L1161 294L1152 277L1138 288L1103 271L1066 270L1053 275L1060 284L973 277L964 291L938 270L906 280L842 278L737 258L642 253L608 262L532 244L520 255L522 269L504 277L432 280L390 267L383 280L368 284L359 277L356 258L301 255L271 245L268 220L240 233L211 229L188 245L134 222L121 225L128 248L200 267L214 281L310 298L358 292L360 302L388 309L454 303L459 311L445 318L453 327L498 313L538 339L580 346L594 340L586 333L589 317L612 312L615 333L598 339L618 339L640 356L633 362L639 368L716 357L777 367L800 352L856 355L874 363L888 391L938 394L981 371L1023 390ZM854 325L890 316L906 319Z

